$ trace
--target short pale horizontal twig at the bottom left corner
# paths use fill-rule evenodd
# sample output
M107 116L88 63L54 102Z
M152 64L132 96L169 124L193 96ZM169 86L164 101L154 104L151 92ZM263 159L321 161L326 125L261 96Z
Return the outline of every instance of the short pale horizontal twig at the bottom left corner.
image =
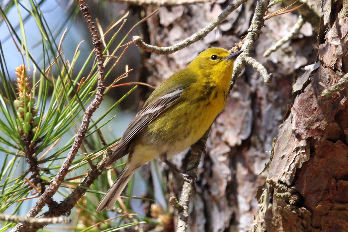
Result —
M23 224L69 224L71 222L71 219L68 217L35 218L0 214L0 221L17 222Z

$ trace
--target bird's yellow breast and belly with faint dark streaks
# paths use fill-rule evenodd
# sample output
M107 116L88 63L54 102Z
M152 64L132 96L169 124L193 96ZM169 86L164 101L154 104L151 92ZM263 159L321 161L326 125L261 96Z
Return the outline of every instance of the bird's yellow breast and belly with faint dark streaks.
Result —
M184 151L209 129L225 106L226 97L227 90L212 88L204 98L183 98L149 124L142 140L162 147L168 156Z

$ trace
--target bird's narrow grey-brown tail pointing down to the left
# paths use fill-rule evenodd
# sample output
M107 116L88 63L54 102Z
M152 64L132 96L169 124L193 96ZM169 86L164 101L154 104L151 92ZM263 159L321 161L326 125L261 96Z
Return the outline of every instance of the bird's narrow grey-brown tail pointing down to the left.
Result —
M99 205L97 206L97 209L95 211L100 212L105 208L106 210L109 210L113 207L113 205L117 201L117 198L121 195L122 191L126 187L129 179L133 176L136 169L126 164L125 168L121 171L116 181L113 182L108 192L106 192L103 199L99 202Z

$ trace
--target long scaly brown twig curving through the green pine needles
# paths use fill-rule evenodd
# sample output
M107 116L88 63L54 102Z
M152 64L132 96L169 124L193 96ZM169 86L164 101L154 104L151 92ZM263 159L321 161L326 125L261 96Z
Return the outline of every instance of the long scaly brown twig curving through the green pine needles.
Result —
M90 16L88 12L88 6L82 0L78 0L78 2L80 4L80 9L87 20L88 27L90 31L92 32L93 45L95 46L97 68L98 68L97 90L96 90L95 98L89 104L89 106L87 107L85 111L79 131L75 136L74 143L61 169L58 171L57 175L52 179L46 191L40 196L40 198L35 202L35 205L26 214L26 217L36 216L42 210L45 204L51 201L53 195L57 192L58 187L62 184L64 177L68 173L69 167L82 144L82 141L88 129L90 117L92 116L94 111L98 108L98 106L100 105L104 97L105 86L104 86L104 66L103 66L103 54L102 54L103 49L101 46L102 42L98 35L97 30L95 29L94 23L92 21L92 17ZM40 228L44 225L45 224L43 223L37 226L39 226ZM20 223L17 226L15 226L12 231L28 231L28 225ZM34 231L36 230L34 229Z

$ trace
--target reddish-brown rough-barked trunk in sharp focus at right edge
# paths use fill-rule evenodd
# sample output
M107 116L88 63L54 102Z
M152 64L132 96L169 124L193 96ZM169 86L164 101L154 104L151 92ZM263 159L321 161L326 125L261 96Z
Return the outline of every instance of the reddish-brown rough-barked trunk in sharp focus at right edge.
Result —
M251 231L347 231L347 8L323 2L321 63L293 85Z

